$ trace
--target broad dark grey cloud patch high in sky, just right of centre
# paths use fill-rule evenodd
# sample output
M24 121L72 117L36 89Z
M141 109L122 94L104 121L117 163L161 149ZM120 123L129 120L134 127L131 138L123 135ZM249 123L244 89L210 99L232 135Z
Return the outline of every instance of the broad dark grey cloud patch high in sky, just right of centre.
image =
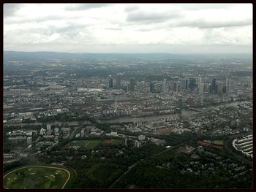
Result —
M129 12L127 15L127 21L132 22L164 22L172 18L181 18L182 14L180 12Z

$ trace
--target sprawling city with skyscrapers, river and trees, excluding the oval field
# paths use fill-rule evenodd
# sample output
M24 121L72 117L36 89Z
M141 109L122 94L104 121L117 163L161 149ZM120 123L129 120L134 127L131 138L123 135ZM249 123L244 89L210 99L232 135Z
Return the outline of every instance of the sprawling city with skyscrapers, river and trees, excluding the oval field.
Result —
M166 188L192 177L202 183L187 188L252 186L247 58L6 58L3 78L6 169L71 166L90 178L76 188L157 188L142 181L149 170L177 180ZM105 177L96 174L106 167Z

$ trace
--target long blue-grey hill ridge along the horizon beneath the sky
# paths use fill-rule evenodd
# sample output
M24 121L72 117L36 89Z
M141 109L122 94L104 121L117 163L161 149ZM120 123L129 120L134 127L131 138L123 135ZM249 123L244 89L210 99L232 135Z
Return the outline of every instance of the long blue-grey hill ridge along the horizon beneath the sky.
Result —
M19 52L4 51L4 61L41 61L53 59L86 59L86 58L241 58L251 59L250 54L188 54L178 55L169 53L59 53L59 52Z

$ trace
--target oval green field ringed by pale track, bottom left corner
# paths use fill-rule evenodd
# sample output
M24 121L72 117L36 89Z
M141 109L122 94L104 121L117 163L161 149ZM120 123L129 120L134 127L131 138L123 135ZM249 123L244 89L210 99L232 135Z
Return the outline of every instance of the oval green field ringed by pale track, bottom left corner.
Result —
M7 189L57 189L64 188L69 179L68 169L59 166L23 166L4 175Z

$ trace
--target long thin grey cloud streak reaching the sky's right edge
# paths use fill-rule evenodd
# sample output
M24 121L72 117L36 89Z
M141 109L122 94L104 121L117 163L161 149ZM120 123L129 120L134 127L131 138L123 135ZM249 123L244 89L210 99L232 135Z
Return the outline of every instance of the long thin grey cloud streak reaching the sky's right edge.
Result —
M178 23L176 26L189 26L197 28L221 28L221 27L235 27L235 26L249 26L252 25L252 20L227 20L227 21L208 21L208 20L190 20Z

